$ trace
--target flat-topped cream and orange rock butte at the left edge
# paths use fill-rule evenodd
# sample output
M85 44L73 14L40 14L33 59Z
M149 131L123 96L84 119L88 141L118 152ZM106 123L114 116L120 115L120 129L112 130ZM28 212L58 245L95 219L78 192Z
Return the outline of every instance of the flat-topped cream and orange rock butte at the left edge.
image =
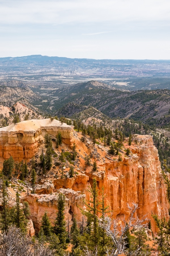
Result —
M43 143L45 133L56 137L61 132L65 144L73 143L73 126L58 120L32 119L0 128L0 156L21 161L23 158L32 158L38 147Z

